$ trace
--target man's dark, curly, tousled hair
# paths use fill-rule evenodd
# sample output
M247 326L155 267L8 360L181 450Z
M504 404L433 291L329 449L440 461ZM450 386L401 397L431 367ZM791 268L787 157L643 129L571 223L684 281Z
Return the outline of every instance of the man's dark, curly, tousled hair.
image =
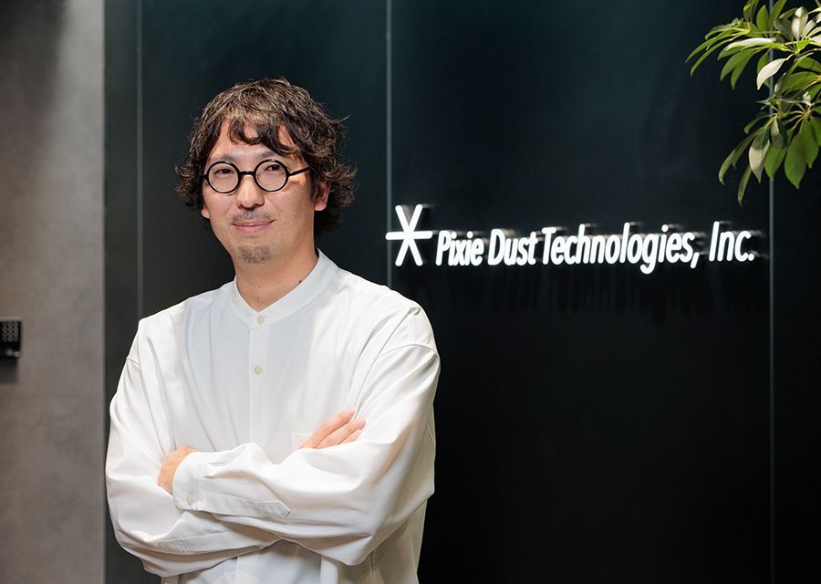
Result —
M194 121L190 147L182 166L176 167L183 203L198 211L203 209L203 172L223 121L228 122L231 140L247 144L265 144L281 156L299 154L310 166L313 193L319 183L329 185L327 207L314 214L314 238L337 228L339 209L353 203L356 169L343 164L338 157L342 139L342 121L334 120L305 89L292 85L286 78L264 78L234 85L217 95ZM255 137L245 133L246 125L256 130ZM293 146L279 138L285 128ZM210 222L206 219L207 224Z

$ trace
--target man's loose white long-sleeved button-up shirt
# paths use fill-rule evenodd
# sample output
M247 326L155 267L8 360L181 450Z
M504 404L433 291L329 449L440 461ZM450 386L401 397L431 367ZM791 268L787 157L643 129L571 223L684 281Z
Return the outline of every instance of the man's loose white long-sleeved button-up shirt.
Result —
M120 545L163 584L417 582L438 376L422 309L321 253L261 312L234 280L143 318L110 406ZM299 448L345 408L355 442Z

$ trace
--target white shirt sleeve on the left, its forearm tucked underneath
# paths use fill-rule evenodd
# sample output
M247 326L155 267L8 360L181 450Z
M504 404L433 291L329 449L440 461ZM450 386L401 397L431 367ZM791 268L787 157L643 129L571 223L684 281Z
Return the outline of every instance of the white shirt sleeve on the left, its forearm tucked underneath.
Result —
M229 525L211 514L183 510L157 484L162 462L175 449L159 392L147 391L130 357L111 401L106 486L120 546L161 577L211 568L274 543L269 531Z

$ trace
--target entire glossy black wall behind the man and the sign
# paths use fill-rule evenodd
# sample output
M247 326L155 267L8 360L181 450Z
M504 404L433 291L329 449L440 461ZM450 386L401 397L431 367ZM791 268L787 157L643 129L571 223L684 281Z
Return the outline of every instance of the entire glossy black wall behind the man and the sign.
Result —
M422 581L795 581L816 569L818 184L715 180L756 109L683 60L740 2L107 3L109 396L140 316L233 276L175 200L193 117L285 75L348 116L359 200L320 246L442 353ZM135 50L136 49L136 50ZM749 264L393 266L426 229L716 220ZM421 245L432 258L432 245ZM110 582L140 579L109 535Z

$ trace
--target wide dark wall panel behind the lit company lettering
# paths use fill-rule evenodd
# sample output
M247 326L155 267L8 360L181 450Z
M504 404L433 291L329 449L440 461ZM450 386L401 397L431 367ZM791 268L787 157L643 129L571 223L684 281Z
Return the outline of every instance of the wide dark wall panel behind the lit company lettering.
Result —
M741 209L715 180L753 92L683 65L735 4L396 3L394 202L485 235L766 231L766 189ZM447 558L465 581L769 579L765 261L410 264L394 286L444 363L421 575Z

